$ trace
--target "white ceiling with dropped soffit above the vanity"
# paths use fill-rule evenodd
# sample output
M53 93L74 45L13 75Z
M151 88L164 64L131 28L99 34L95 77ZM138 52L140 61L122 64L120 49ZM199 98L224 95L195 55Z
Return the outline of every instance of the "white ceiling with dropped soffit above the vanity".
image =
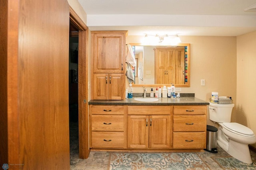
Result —
M256 30L256 0L78 0L90 30L238 36Z

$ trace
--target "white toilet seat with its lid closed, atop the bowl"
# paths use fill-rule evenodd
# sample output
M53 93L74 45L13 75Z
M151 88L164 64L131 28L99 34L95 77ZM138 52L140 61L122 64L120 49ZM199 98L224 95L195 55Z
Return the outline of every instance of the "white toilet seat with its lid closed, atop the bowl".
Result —
M241 135L241 136L244 136L244 137L255 137L253 131L244 126L244 125L241 125L239 123L234 123L234 122L231 122L231 123L222 123L222 127L225 128L226 130L232 132L232 133L236 133L238 135Z

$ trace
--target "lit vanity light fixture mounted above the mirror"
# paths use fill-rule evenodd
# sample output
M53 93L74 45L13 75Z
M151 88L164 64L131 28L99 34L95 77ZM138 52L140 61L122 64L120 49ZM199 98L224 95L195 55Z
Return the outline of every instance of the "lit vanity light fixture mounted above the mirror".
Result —
M151 37L151 38L150 38ZM180 37L178 35L145 35L145 39L149 39L149 41L158 41L158 43L170 43L170 44L178 44L181 43ZM148 42L149 42L148 41Z

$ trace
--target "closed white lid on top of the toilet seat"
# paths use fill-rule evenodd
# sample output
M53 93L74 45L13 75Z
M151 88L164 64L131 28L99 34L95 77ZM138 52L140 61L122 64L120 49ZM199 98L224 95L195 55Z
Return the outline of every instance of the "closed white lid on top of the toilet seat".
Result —
M224 127L226 127L226 129L230 129L232 131L234 131L235 133L238 132L238 133L241 133L243 135L254 135L253 131L244 126L244 125L241 125L239 123L223 123L222 125L224 125Z

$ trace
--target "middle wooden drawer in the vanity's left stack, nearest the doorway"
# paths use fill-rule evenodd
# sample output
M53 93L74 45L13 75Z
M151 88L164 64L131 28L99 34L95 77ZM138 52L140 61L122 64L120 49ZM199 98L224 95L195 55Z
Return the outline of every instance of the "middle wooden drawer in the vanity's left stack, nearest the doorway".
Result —
M92 131L124 131L124 115L92 115Z

